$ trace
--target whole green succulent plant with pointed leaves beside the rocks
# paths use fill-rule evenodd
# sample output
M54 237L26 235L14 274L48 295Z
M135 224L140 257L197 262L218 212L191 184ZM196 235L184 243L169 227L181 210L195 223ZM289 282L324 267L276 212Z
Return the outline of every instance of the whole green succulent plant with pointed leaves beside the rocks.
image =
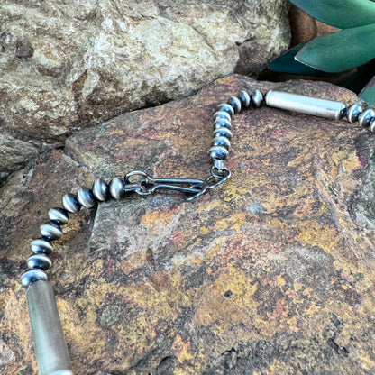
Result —
M342 30L297 45L274 60L270 69L330 77L357 67L342 85L375 105L375 1L291 0L291 3L318 21Z

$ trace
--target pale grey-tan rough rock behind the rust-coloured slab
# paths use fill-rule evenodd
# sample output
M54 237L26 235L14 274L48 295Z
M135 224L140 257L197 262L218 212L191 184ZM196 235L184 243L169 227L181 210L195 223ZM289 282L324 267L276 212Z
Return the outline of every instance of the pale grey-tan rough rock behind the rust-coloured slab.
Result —
M288 47L288 6L252 3L3 1L1 134L14 136L14 149L19 139L62 142L234 70L259 73Z

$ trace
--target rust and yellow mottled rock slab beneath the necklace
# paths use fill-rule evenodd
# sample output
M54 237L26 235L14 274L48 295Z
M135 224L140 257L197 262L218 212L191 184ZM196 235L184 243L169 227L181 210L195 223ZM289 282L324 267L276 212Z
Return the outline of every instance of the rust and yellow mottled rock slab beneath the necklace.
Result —
M36 374L18 276L48 208L95 176L206 177L216 105L273 86L220 79L77 133L68 155L49 151L14 175L0 202L0 371ZM356 99L326 83L276 86ZM345 121L245 111L221 188L190 203L129 196L72 218L49 274L75 374L373 373L372 142Z

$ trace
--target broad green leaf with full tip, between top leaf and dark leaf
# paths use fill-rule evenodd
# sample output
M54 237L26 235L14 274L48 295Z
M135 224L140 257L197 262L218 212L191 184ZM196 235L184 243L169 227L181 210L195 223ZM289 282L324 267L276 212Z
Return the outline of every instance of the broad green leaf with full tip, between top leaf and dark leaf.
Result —
M324 35L310 41L296 59L309 67L339 72L375 58L375 23Z

